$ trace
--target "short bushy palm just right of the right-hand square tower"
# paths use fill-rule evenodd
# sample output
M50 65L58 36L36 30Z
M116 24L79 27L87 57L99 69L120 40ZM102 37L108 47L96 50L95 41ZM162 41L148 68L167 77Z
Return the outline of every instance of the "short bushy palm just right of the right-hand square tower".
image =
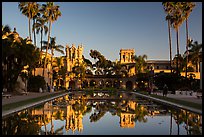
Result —
M135 55L135 67L136 67L136 71L137 73L141 73L144 71L144 67L147 65L146 64L146 59L147 59L147 55Z

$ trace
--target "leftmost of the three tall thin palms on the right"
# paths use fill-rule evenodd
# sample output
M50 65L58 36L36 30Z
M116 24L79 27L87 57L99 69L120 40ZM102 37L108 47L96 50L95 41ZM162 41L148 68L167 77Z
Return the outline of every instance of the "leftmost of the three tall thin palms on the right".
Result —
M164 10L167 13L166 20L168 22L168 32L169 32L169 52L170 52L170 69L172 72L172 47L171 47L171 27L172 27L172 2L163 2Z

